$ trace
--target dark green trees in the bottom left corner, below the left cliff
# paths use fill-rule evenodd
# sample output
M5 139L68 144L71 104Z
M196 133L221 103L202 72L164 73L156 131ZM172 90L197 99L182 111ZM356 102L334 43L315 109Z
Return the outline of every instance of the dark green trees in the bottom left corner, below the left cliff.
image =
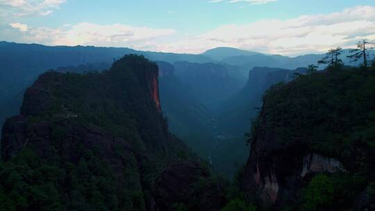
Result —
M74 164L25 150L0 165L0 179L0 210L116 210L139 201L135 190L115 188L108 164L90 151Z

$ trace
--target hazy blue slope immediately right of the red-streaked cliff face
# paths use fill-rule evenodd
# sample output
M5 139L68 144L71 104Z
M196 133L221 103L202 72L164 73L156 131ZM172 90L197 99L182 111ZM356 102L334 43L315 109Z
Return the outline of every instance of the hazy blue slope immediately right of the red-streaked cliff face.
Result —
M160 100L169 129L178 135L202 158L208 158L213 145L213 112L208 110L196 93L178 78L174 65L158 62L160 78ZM204 134L204 135L203 135Z

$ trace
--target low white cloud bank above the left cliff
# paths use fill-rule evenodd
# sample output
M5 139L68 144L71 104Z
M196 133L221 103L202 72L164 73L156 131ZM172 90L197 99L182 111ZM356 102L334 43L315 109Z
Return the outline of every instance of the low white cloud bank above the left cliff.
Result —
M22 25L22 26L21 26ZM22 31L24 24L15 24L13 28ZM172 35L176 31L164 28L136 27L124 24L99 25L92 23L64 24L60 28L28 28L26 33L18 35L23 42L37 42L48 45L95 45L102 47L149 47L158 38ZM1 36L1 35L0 35ZM9 37L9 36L8 36ZM16 40L17 41L17 40ZM151 42L152 41L152 42Z

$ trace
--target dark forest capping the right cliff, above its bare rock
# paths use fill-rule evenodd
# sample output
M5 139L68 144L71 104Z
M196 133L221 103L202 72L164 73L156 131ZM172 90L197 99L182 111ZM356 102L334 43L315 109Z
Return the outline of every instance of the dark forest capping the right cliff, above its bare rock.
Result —
M279 126L276 133L284 144L304 142L311 151L351 162L360 159L355 146L374 149L373 96L375 71L340 69L275 85L264 96L263 110L267 124Z

